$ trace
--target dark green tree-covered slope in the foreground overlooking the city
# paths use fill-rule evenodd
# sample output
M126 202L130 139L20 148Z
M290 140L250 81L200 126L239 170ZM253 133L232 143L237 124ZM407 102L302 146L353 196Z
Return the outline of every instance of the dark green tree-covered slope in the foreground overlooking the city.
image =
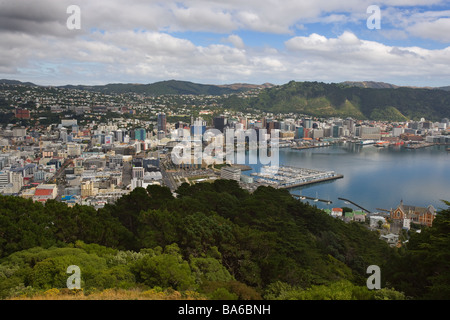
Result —
M412 298L448 292L448 257L441 259L449 247L448 211L405 253L286 190L250 194L217 180L184 184L177 193L137 188L99 210L0 196L0 297L65 288L69 265L80 267L85 294L139 288L244 300L405 298L398 288ZM402 267L415 260L413 269ZM382 290L366 288L369 265L391 270L382 271ZM423 283L412 287L417 275Z

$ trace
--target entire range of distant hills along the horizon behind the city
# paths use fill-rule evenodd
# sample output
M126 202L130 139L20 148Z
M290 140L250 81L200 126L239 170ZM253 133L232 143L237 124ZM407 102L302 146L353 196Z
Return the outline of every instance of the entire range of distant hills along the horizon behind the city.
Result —
M36 86L30 82L0 80L0 84ZM341 83L296 82L284 85L236 83L209 85L188 81L161 81L151 84L66 85L58 88L87 90L105 94L143 95L231 95L223 99L226 108L259 109L267 112L298 112L321 117L405 121L450 118L450 86L416 88L374 81ZM240 98L236 94L261 89L258 96Z

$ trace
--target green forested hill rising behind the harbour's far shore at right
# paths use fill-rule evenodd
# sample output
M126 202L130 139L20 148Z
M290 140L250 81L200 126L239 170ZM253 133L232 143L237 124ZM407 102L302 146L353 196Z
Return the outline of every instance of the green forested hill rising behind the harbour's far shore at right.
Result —
M349 84L295 82L263 90L256 98L225 99L225 107L318 117L440 121L450 113L450 92L417 88L363 88Z

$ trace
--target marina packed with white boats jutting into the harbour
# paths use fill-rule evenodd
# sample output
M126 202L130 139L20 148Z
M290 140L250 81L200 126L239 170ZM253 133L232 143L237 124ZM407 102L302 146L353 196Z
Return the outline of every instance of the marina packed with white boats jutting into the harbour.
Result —
M313 183L341 179L344 176L334 171L319 171L314 169L296 168L289 166L264 166L261 172L251 174L255 181L276 188L295 188Z

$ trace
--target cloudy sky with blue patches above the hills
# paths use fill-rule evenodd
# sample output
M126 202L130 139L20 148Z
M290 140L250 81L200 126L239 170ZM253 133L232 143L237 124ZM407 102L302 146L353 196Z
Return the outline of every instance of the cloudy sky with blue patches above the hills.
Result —
M0 78L450 86L450 0L0 0Z

